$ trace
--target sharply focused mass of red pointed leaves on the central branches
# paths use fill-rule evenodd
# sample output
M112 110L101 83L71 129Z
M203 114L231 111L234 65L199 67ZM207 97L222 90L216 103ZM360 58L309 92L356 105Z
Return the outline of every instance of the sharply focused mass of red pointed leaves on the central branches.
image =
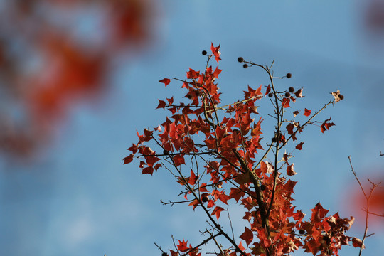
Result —
M219 48L212 45L213 55L209 58L214 56L220 60ZM220 72L218 68L213 70L208 65L203 72L190 68L186 73L187 79L180 80L187 91L185 97L190 102L176 105L173 97L159 100L157 108L169 110L171 119L166 118L153 131L144 129L144 134L137 133L139 142L128 149L132 154L124 158L124 164L133 161L137 153L142 158L139 167L143 174L153 174L164 162L170 163L176 169L176 181L186 188L184 198L187 200L191 194L194 196L189 205L193 209L198 206L207 209L217 220L225 210L220 205L228 205L231 200L240 203L245 208L243 219L249 222L240 235L247 248L240 242L236 250L228 250L230 256L237 255L238 250L242 251L242 255L287 255L299 247L313 255L318 252L321 255L337 255L341 246L348 245L351 240L344 233L350 228L353 218L342 219L337 213L326 216L328 210L318 203L312 210L311 220L304 221L304 213L292 204L292 193L297 182L278 172L282 166L287 166L287 176L296 174L294 164L289 164L290 155L284 154L281 166L265 161L265 157L257 159L260 158L260 151L264 150L260 144L263 119L254 118L259 114L255 102L274 88L268 86L263 94L261 86L256 90L248 86L242 100L218 107L220 93L215 80ZM171 81L164 78L160 82L167 86ZM274 91L274 94L277 95L277 92ZM276 99L282 109L286 109L289 102L302 97L302 89L294 95L296 97ZM219 111L225 113L219 114ZM294 115L299 113L295 112ZM310 115L311 110L305 109L304 116ZM321 127L329 129L331 125L334 124L326 120ZM295 134L302 132L303 127L292 121L286 129L286 136L279 134L278 142L283 146L289 139L297 140ZM323 128L321 132L324 132ZM153 151L148 142L157 144L162 152ZM297 144L296 149L301 150L303 144ZM186 159L196 161L196 165L202 161L204 170L183 170L188 162ZM262 209L265 209L264 213ZM267 220L263 221L263 218ZM184 252L184 255L200 255L184 240L179 240L177 250ZM176 256L178 252L171 250L171 255Z

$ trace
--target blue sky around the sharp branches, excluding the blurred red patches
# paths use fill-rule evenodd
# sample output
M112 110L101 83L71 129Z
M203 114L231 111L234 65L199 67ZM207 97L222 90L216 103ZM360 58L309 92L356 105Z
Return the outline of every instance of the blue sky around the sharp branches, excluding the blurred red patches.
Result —
M201 240L206 218L186 206L161 206L178 185L166 170L142 176L137 163L122 165L136 130L156 127L165 112L158 101L181 96L176 81L205 66L201 50L221 44L218 80L223 102L267 83L238 56L292 73L282 87L304 87L298 107L319 109L338 89L345 100L327 109L336 124L321 134L309 127L294 162L294 198L304 212L321 201L331 213L351 215L356 186L347 156L361 178L383 179L384 41L363 23L363 1L159 1L154 42L134 60L117 58L98 104L75 108L58 137L33 164L0 162L0 235L4 255L160 255L154 242L172 247L171 235ZM267 101L263 104L267 105ZM264 105L260 106L260 113ZM267 110L267 107L265 107ZM381 177L380 177L381 175ZM231 216L241 216L233 209ZM233 217L234 218L234 217ZM359 224L360 223L360 224ZM383 252L383 219L370 225L365 255ZM238 230L243 230L238 225ZM361 237L356 220L349 235ZM239 233L240 235L240 233ZM381 242L380 242L381 241ZM300 253L297 253L300 255ZM344 248L340 255L358 255Z

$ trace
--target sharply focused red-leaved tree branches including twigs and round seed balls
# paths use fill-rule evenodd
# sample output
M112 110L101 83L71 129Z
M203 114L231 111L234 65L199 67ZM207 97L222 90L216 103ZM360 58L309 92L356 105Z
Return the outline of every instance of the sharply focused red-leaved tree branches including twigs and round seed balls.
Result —
M297 174L293 152L305 147L299 137L309 124L318 126L322 133L334 125L331 118L324 122L314 119L342 100L340 92L332 92L332 99L316 112L294 110L294 102L304 97L303 89L274 84L277 79L292 77L290 73L274 77L273 63L268 67L239 58L245 68L265 70L270 84L248 86L242 100L223 104L217 83L222 70L210 65L212 58L219 63L219 49L220 45L211 45L212 54L207 56L203 71L189 68L186 79L174 78L185 90L186 100L159 100L157 108L171 112L170 117L154 129L137 132L139 141L129 147L131 154L124 158L124 164L138 159L142 174L168 169L183 189L183 202L206 213L210 224L203 233L208 238L193 245L183 238L175 241L169 252L159 247L163 255L202 255L202 245L209 242L217 247L211 253L222 256L289 255L299 248L312 255L338 255L338 250L351 242L361 247L361 240L346 235L353 217L329 214L316 202L306 217L292 198L297 183L291 180ZM168 86L171 80L160 82ZM262 117L257 111L257 105L265 103L274 107L270 113L275 122L272 138L263 137L262 132L268 115ZM222 213L231 205L243 207L242 219L248 223L234 236L228 232L231 227L221 222L228 218Z

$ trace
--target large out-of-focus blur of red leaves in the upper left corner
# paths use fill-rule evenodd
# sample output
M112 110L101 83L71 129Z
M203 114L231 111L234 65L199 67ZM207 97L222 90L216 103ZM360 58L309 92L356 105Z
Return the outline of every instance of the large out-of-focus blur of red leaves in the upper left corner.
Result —
M12 24L0 26L1 153L21 159L34 156L75 103L101 97L111 60L129 53L127 46L137 50L149 42L152 9L151 0L1 4L3 23ZM75 23L80 13L87 17L87 26L95 25L97 34L105 35L102 39L74 36L74 28L83 27ZM70 23L75 26L68 28Z

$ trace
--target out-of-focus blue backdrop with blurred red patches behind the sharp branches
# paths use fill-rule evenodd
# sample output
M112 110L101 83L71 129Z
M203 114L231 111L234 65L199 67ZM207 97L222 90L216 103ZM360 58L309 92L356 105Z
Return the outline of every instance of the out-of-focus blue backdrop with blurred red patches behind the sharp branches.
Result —
M122 158L136 130L164 119L157 99L183 96L158 81L203 69L211 42L221 44L223 102L267 84L238 56L292 73L277 85L304 87L299 108L341 90L345 100L319 117L336 126L302 136L295 204L354 215L349 235L362 237L348 156L366 189L367 178L384 183L384 1L1 0L0 21L2 255L160 255L154 242L173 247L171 235L201 241L204 215L160 203L176 199L171 175L142 176ZM372 201L381 214L383 186ZM370 217L365 255L383 253L383 228Z

